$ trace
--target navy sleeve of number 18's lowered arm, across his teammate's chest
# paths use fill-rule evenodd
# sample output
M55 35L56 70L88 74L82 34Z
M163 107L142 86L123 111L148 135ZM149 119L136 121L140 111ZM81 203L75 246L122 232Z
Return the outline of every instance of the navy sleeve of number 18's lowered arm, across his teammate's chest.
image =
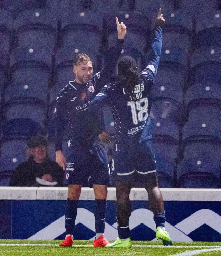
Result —
M108 101L110 92L108 90L109 86L105 85L100 92L95 96L95 98L90 102L87 114L89 126L96 134L100 134L104 131L103 125L100 122L100 109Z

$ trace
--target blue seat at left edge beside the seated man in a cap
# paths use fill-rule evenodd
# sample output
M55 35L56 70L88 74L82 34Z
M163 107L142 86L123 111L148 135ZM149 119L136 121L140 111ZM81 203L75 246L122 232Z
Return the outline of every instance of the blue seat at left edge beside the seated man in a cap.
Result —
M1 143L0 170L15 170L28 160L27 138L11 137Z

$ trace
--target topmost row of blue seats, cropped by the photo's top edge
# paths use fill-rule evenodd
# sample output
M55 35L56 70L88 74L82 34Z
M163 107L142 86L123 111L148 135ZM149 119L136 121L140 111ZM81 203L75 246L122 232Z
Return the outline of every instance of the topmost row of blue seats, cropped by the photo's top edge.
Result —
M119 9L144 12L151 17L159 8L163 10L187 10L198 17L202 10L221 9L219 0L1 0L0 8L11 12L16 17L21 11L30 8L44 8L56 15L62 15L65 9L89 9L99 14L114 12Z

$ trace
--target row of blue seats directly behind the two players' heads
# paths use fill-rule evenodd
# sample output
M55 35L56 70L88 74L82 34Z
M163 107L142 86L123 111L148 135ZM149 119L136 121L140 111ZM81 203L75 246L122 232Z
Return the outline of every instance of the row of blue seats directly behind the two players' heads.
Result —
M116 37L115 37L116 41ZM16 48L10 56L0 51L0 93L2 95L6 85L10 91L13 87L25 96L31 90L35 90L36 84L40 92L51 88L52 94L57 95L59 90L67 83L67 79L73 77L72 61L78 53L87 53L93 62L94 73L108 63L108 48L106 53L100 56L92 49L77 48L75 43L61 48L55 58L50 50L42 45L30 43L27 46ZM138 63L139 70L144 67L144 58L134 48L123 46L122 56L131 55ZM190 61L189 61L190 60ZM156 83L173 83L177 90L183 91L195 83L221 84L221 47L200 47L191 58L179 48L162 48L160 64ZM9 63L10 62L10 63ZM9 77L8 77L9 74ZM29 90L23 86L28 85ZM26 88L27 89L27 88ZM36 97L42 98L36 92Z

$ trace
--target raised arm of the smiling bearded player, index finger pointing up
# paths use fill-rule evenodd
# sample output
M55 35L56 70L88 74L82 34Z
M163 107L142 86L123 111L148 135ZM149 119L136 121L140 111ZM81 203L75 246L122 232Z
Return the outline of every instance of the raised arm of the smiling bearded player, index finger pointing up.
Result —
M111 74L117 64L118 58L121 56L124 37L127 33L127 27L123 24L123 22L119 23L117 17L116 25L118 33L116 45L114 48L108 51L108 61L105 64L103 70L93 76L93 80L97 86L97 90L100 90L105 84L109 82Z

